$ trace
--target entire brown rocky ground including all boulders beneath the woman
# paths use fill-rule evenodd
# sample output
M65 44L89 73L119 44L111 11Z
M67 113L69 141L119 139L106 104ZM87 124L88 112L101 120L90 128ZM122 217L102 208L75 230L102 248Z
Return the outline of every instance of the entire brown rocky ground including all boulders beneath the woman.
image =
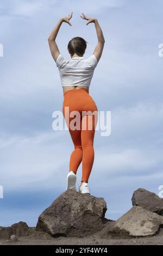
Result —
M104 198L68 190L42 212L36 228L25 222L0 227L0 245L163 245L162 200L139 188L132 202L111 221Z

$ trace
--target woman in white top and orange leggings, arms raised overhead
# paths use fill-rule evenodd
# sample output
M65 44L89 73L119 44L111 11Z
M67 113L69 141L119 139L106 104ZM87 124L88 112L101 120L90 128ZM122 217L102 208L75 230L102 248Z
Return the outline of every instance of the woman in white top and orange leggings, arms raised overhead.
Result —
M74 117L72 118L71 114L66 115L66 107L69 108L69 113L72 113L72 111L80 113L80 117L78 116L80 129L73 129L73 127L68 129L74 144L74 150L70 157L70 170L67 175L66 190L70 188L76 190L76 174L82 162L82 180L79 184L79 192L90 194L88 180L94 161L93 139L95 136L98 109L95 101L93 101L89 94L89 86L93 72L101 58L105 40L97 19L88 18L82 13L80 17L87 20L86 25L89 23L95 24L98 39L95 51L89 58L85 59L83 55L86 49L86 41L77 36L68 42L67 50L70 53L71 59L64 58L59 52L55 39L62 22L66 22L72 26L70 23L71 17L72 13L58 21L51 35L49 35L48 43L60 73L64 93L62 113L64 114L68 127ZM83 112L87 113L83 115ZM96 114L91 115L90 112L96 112ZM92 117L92 129L87 125L89 124L90 115Z

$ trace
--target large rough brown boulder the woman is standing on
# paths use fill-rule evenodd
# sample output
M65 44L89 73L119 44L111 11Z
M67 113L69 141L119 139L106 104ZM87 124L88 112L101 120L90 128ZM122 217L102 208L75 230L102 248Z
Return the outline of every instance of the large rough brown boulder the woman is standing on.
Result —
M85 237L101 230L108 221L104 198L74 190L62 193L39 216L36 231L52 236Z

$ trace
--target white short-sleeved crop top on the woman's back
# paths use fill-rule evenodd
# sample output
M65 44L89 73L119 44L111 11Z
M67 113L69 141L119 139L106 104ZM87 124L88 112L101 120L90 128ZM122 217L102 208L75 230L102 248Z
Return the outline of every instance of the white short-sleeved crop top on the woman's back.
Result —
M89 87L97 63L97 58L93 54L87 59L78 56L66 59L59 54L56 64L59 69L62 87L71 85Z

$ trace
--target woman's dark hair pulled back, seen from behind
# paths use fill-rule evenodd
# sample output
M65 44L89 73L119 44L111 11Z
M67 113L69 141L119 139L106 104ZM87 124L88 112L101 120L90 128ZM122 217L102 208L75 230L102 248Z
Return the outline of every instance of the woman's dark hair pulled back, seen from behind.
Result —
M73 56L74 53L76 53L79 56L83 56L85 53L87 41L85 41L83 38L80 38L80 36L76 36L76 38L72 38L68 42L67 49L69 48L70 54Z

